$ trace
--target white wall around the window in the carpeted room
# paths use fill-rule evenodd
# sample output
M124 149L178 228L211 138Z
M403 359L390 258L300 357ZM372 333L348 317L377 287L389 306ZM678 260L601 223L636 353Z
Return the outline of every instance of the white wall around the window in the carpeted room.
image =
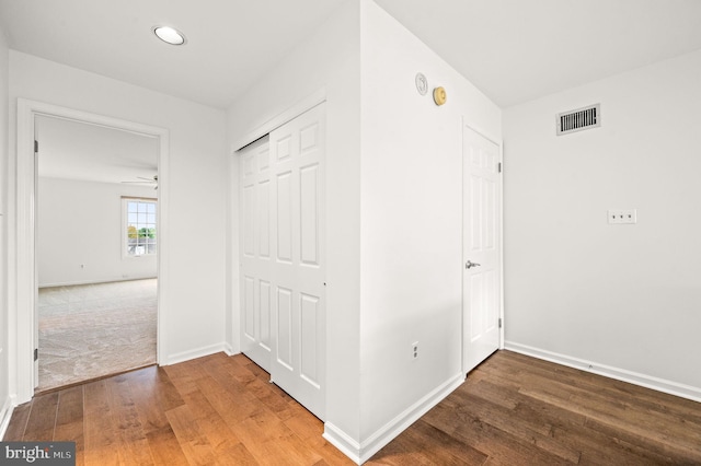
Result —
M157 194L149 186L39 177L38 286L156 277L156 256L123 256L122 196L156 198Z

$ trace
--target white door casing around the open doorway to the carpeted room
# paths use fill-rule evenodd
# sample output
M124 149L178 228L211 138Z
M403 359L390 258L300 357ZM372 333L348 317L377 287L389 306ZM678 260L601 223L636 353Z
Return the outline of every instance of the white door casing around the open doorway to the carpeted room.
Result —
M129 120L106 117L102 115L91 114L87 112L76 110L71 108L60 107L42 102L28 101L24 98L18 100L18 152L16 152L16 189L15 189L15 229L10 232L9 242L11 251L15 252L15 269L14 277L16 282L12 283L12 288L16 292L12 295L10 305L10 319L14 322L16 328L16 338L9 348L11 351L11 361L14 361L13 368L16 373L16 403L22 404L32 399L35 388L39 385L38 376L38 289L39 289L39 267L37 256L37 246L39 238L37 236L41 229L42 219L37 215L37 191L41 190L39 164L37 163L37 151L35 137L41 139L41 123L37 119L46 117L55 120L70 121L81 124L87 127L111 129L120 131L122 133L137 135L150 138L156 141L156 166L158 176L158 255L156 257L156 276L158 277L157 288L157 336L156 336L156 362L164 359L166 354L165 334L163 329L168 328L165 324L166 313L166 293L169 276L166 257L166 238L168 238L168 153L169 153L169 132L166 129L152 127L148 125L137 124ZM94 154L93 154L94 156ZM91 162L94 161L91 159ZM78 170L87 170L90 162L85 162L84 166ZM114 172L114 167L108 167L105 172ZM129 179L124 179L129 180ZM156 180L156 179L154 179ZM151 188L152 189L152 188ZM151 193L151 191L149 191ZM82 205L88 200L83 197ZM117 202L122 202L119 199ZM81 205L81 202L78 202ZM87 234L90 225L84 225L83 232ZM128 232L124 233L128 238ZM138 236L138 235L137 235ZM147 233L148 236L148 233ZM67 244L70 249L81 247L87 244L85 238L73 238L72 243ZM148 244L148 240L147 240ZM114 254L120 254L120 246L115 246ZM139 260L139 259L135 259ZM82 273L90 271L88 260L79 260L79 270ZM80 266L83 267L80 267ZM128 273L127 275L127 279ZM122 277L124 278L124 277Z

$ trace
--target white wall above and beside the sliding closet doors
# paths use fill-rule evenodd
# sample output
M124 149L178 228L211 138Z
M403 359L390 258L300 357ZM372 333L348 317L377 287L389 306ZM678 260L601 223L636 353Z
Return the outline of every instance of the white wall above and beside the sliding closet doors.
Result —
M326 94L326 420L359 436L359 153L358 3L348 1L228 112L231 142L320 89ZM238 180L235 156L233 179ZM238 194L238 186L232 188ZM232 207L238 198L232 199ZM232 231L238 232L238 211ZM238 237L233 238L238 245ZM238 272L238 267L233 268ZM238 273L232 287L238 287ZM238 303L238 292L232 295ZM232 313L233 335L239 314ZM237 351L238 342L234 342Z

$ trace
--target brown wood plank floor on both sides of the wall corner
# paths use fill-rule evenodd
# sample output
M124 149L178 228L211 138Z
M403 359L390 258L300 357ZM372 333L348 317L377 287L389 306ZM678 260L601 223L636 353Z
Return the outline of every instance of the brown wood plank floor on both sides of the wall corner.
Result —
M347 465L243 356L39 395L5 441L74 441L78 465ZM499 351L370 465L701 464L701 404Z

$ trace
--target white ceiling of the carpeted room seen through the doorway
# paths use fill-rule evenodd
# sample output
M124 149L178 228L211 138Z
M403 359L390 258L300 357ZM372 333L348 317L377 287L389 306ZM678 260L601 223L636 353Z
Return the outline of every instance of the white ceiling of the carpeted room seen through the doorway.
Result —
M62 118L37 116L38 175L100 183L141 183L158 174L159 141Z

